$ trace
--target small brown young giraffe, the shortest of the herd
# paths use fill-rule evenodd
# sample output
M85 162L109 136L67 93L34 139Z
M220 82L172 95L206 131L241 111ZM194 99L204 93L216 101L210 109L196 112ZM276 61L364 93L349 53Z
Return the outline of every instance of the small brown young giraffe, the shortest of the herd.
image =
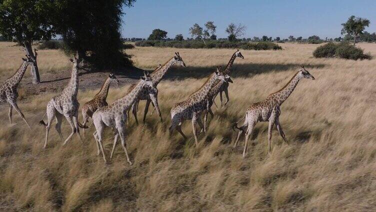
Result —
M108 103L106 101L109 85L112 81L115 81L117 84L119 83L119 80L116 78L115 74L110 73L106 80L103 82L102 87L100 88L99 92L95 94L94 98L90 101L87 101L83 104L81 113L83 122L82 125L85 125L89 117L91 118L92 113L95 112L95 110L102 106L107 106ZM83 128L83 136L85 136L85 129Z

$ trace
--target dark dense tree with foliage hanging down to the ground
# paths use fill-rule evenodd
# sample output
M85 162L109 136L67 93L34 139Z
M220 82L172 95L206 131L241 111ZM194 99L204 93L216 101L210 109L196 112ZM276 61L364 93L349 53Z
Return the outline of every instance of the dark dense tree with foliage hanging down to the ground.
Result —
M58 33L66 52L78 52L97 68L130 64L120 39L123 6L135 0L59 0Z

